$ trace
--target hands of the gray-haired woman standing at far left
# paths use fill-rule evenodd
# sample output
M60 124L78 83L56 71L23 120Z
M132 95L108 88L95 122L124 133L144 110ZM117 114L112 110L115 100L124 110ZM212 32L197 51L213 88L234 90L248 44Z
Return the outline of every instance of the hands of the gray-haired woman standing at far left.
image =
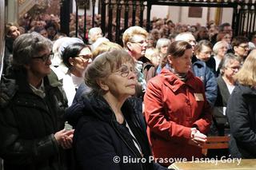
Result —
M54 137L57 140L58 144L60 144L64 149L72 148L73 136L74 129L68 131L66 131L66 129L63 129L54 134Z

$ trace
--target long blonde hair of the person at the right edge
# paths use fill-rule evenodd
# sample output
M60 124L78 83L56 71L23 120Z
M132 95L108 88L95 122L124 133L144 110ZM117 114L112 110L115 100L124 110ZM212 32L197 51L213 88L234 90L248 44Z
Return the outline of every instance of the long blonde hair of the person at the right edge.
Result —
M246 57L242 68L234 75L234 80L241 85L256 85L256 49L252 50Z

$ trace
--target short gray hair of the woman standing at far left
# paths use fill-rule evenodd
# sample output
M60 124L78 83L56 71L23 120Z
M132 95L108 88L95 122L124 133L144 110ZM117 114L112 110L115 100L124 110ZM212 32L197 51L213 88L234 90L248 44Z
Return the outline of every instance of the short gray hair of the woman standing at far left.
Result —
M22 34L14 41L13 66L15 69L24 67L39 52L52 48L52 42L41 34Z

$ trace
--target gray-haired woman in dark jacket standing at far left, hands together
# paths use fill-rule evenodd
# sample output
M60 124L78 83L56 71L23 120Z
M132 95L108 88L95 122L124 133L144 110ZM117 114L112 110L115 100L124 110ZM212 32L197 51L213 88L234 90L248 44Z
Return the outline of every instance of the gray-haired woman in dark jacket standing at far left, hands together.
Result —
M14 41L13 65L0 84L4 169L66 170L74 131L64 128L62 84L50 69L51 42L37 33Z

